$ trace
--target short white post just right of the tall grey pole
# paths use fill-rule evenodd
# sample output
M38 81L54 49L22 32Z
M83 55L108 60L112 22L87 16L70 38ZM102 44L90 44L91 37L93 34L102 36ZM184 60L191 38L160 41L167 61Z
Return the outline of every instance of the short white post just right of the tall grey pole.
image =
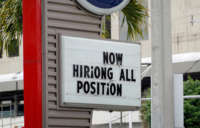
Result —
M175 128L184 128L183 74L174 75Z

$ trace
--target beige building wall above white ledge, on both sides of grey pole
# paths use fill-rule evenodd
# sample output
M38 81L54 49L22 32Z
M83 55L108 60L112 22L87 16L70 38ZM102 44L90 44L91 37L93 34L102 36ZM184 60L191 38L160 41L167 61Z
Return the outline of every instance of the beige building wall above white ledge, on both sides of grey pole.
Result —
M199 52L200 0L172 0L171 4L173 54ZM149 23L150 29L151 23ZM142 44L142 57L150 57L151 40L140 42Z

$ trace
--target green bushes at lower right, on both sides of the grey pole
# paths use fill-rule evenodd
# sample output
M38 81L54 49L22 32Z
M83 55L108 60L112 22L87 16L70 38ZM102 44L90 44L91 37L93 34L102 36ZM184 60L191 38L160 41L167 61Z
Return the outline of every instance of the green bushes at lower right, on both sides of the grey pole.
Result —
M150 90L148 90L150 97ZM189 78L184 82L184 95L200 95L200 80ZM151 103L145 101L142 103L142 119L144 128L151 127ZM184 100L184 126L185 128L200 128L200 99Z

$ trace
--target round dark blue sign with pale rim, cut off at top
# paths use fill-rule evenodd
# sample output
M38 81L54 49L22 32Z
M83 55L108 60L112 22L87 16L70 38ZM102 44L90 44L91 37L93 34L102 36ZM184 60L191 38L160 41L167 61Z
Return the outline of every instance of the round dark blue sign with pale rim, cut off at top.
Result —
M123 9L130 0L77 0L88 11L98 15L108 15Z

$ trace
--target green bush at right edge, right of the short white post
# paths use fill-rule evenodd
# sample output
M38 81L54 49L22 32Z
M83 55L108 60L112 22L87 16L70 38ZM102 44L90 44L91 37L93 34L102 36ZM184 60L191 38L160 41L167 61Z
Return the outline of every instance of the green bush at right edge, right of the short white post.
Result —
M200 81L189 78L184 83L184 95L200 95ZM187 99L184 101L185 128L200 127L200 99Z

